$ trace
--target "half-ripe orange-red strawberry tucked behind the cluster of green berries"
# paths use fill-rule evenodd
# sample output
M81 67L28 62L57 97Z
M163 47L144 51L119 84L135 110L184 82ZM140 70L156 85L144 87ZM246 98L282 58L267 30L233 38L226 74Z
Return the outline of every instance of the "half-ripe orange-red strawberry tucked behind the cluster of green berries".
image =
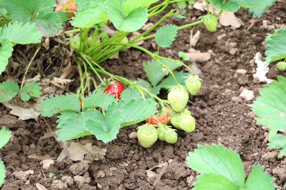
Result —
M170 125L170 108L168 106L165 106L163 110L160 110L159 113L154 114L154 116L150 116L148 119L145 120L146 123L149 123L152 125L157 125L158 122L166 125Z

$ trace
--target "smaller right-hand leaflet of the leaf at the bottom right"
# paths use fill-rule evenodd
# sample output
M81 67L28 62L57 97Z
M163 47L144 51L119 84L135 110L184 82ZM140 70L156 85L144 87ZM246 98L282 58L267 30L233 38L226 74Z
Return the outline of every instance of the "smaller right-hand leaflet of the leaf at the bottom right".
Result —
M245 182L245 190L274 190L273 177L263 172L263 166L252 166L251 173Z

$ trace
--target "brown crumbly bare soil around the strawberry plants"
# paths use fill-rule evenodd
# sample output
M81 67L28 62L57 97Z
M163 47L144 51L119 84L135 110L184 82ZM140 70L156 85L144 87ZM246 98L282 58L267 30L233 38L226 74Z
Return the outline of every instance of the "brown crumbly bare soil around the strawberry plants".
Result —
M195 9L188 10L187 13L196 18L203 15L201 11ZM44 170L40 160L31 160L28 156L32 154L54 158L59 156L62 149L53 136L40 140L49 131L47 124L55 130L56 116L45 118L47 124L43 117L39 117L37 121L33 119L23 121L11 115L9 113L11 109L1 104L0 125L12 130L13 134L10 142L0 150L0 158L5 163L7 175L1 189L32 190L37 189L36 183L47 189L191 189L198 173L188 168L185 163L186 156L189 151L194 151L198 144L212 143L221 143L241 156L245 177L253 165L260 164L274 177L273 182L277 185L277 189L285 189L285 157L277 159L278 152L267 147L268 130L253 119L255 114L247 106L252 101L239 97L243 89L252 90L255 97L259 96L258 89L262 88L264 83L253 79L253 70L256 68L256 65L253 65L253 57L256 52L264 54L264 37L272 32L271 28L263 27L263 20L266 20L269 26L281 28L285 26L285 13L286 1L281 0L269 8L260 19L254 20L246 9L237 11L235 15L243 23L240 28L219 25L216 32L208 32L203 24L191 28L194 33L197 30L201 31L195 48L201 52L211 52L212 57L207 62L197 63L197 67L201 70L200 78L203 79L202 88L197 95L190 97L194 104L188 104L196 119L196 130L191 133L178 130L178 141L175 144L157 141L150 148L142 148L137 138L128 137L130 133L136 132L136 127L142 124L139 123L120 129L115 140L103 144L107 153L100 160L87 165L79 162L55 162L48 170ZM156 22L159 17L152 18L150 22ZM254 21L255 24L247 30ZM171 17L161 25L172 23L181 26L190 22L193 21ZM222 34L225 35L218 40L217 37ZM187 52L189 49L189 38L190 28L179 30L173 45L170 48L161 48L160 55L179 59L178 51ZM154 43L154 40L147 40L142 46L151 52L156 52L156 48L152 46ZM19 56L17 50L13 52L14 61L23 59L17 58ZM49 60L43 53L42 60ZM130 48L120 53L119 59L107 60L101 65L107 71L128 79L133 80L138 77L146 79L142 62L148 60L151 58L146 54ZM190 62L185 63L190 64ZM43 62L43 68L47 68L47 64L48 61ZM267 78L277 79L277 75L285 75L284 72L277 70L275 63L271 63L269 68ZM247 73L240 74L237 72L238 69L244 69ZM78 82L74 81L73 85L70 90L73 88L75 90ZM166 98L164 91L161 94L162 98ZM92 140L94 145L100 144L94 136L86 136L85 139ZM30 146L33 143L35 147ZM147 177L146 170L166 161L169 165L160 180L155 182L154 178ZM152 170L156 169L158 167ZM14 173L27 170L33 172L27 175ZM54 179L48 177L49 173L55 174ZM78 184L77 180L74 181L76 175L82 176L84 182Z

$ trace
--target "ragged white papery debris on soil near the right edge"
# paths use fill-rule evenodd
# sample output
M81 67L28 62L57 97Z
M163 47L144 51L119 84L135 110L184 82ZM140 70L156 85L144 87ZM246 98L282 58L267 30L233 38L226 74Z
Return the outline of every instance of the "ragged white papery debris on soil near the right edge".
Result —
M258 77L259 82L265 82L265 81L267 82L267 77L265 75L269 71L269 68L268 68L269 64L263 63L262 55L260 52L257 52L255 54L254 61L257 64L257 68L256 68L256 73L253 74L253 78ZM267 83L271 83L271 82L268 81Z

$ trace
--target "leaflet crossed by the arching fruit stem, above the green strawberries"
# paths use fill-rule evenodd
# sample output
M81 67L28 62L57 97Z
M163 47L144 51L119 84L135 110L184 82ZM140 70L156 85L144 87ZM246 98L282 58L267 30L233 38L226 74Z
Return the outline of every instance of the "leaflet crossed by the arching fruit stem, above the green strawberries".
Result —
M172 61L160 60L160 62L162 62L162 64L164 64L166 66L169 66L171 71L173 71L179 67L178 64L176 64L175 62L172 62ZM143 67L144 67L144 70L147 74L148 80L150 81L150 83L153 86L156 86L158 84L158 82L164 76L166 76L166 73L163 71L162 65L160 65L155 60L152 60L151 62L149 62L149 61L143 62Z

